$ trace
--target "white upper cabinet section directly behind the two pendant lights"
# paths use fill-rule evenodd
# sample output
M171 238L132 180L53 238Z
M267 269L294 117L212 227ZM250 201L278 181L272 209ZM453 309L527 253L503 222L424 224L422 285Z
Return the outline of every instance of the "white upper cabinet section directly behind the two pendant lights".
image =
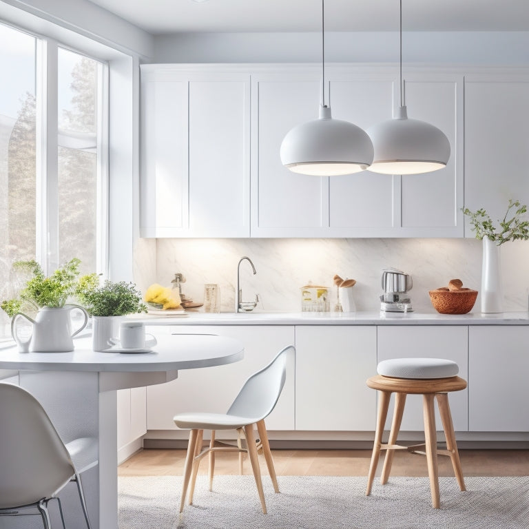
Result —
M391 119L394 68L329 66L333 118L367 129ZM463 235L463 76L406 77L408 113L448 136L444 169L421 175L294 174L281 164L292 127L318 117L321 72L309 66L252 75L252 237L457 237Z

